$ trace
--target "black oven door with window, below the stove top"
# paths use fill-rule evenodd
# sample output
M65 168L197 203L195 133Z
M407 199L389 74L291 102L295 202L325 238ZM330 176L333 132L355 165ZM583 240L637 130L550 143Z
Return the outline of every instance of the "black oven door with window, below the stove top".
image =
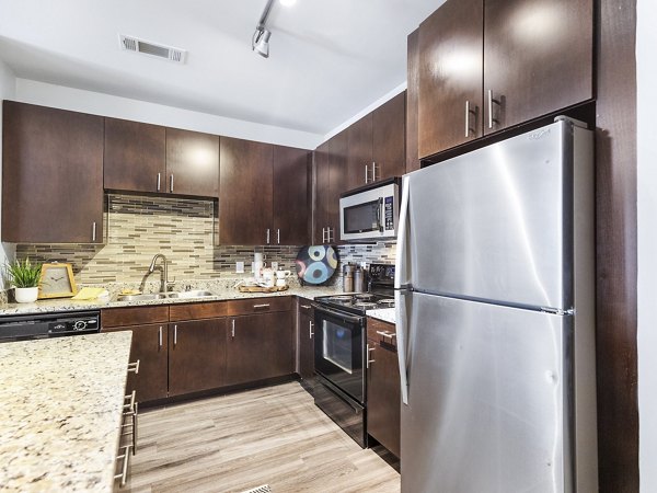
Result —
M365 317L315 306L315 371L358 402L365 402Z

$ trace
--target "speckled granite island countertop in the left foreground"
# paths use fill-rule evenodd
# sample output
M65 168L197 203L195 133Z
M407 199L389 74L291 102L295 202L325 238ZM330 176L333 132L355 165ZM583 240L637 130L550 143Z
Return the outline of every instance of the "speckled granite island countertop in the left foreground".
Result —
M0 344L0 490L113 491L131 335Z

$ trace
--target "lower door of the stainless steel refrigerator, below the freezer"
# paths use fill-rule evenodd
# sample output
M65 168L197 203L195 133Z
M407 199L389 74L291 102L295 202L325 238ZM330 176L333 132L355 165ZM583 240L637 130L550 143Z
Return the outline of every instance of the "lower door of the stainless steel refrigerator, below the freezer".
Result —
M572 492L570 317L410 296L402 493Z

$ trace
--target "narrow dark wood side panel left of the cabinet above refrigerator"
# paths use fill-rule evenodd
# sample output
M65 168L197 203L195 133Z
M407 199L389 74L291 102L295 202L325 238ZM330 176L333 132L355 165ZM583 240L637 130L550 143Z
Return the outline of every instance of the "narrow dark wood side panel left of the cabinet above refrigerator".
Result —
M419 170L417 111L419 93L419 28L408 35L406 45L406 173Z

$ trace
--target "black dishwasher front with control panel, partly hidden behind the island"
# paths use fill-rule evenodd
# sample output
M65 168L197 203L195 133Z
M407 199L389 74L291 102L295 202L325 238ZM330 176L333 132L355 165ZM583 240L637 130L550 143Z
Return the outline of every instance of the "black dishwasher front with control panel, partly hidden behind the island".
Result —
M97 310L0 317L0 343L91 334L100 330Z

